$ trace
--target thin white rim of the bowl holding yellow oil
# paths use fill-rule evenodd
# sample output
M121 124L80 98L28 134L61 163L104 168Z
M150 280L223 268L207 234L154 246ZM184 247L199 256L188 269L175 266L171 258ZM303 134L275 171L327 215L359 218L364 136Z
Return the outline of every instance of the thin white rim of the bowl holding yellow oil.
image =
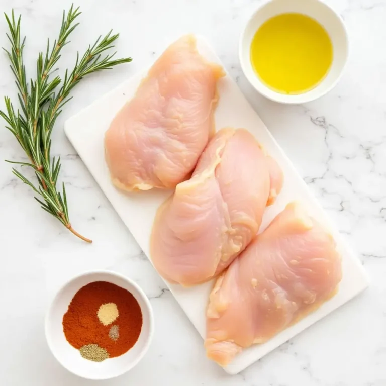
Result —
M251 76L249 76L247 74L246 64L245 64L245 61L243 59L244 52L245 52L245 50L243 49L243 43L245 41L245 33L246 33L246 30L247 30L247 27L251 23L252 19L256 16L256 14L258 14L261 11L261 9L263 7L265 7L269 3L273 3L273 2L276 2L276 1L277 0L265 0L262 4L259 4L252 11L251 15L248 17L248 19L244 23L244 27L243 27L243 29L242 29L242 31L240 33L239 42L238 42L238 56L239 56L239 62L240 62L240 65L241 65L241 70L242 70L244 76L246 77L246 79L248 80L248 82L252 85L252 87L257 92L259 92L261 95L263 95L265 98L267 98L267 99L269 99L269 100L271 100L273 102L281 103L281 104L284 104L284 105L300 105L300 104L303 104L303 103L315 101L315 100L321 98L323 95L326 95L328 92L330 92L336 86L336 84L339 82L339 80L341 79L341 77L342 77L342 75L343 75L343 73L344 73L344 71L346 69L348 58L349 58L349 54L350 54L349 36L348 36L348 31L347 31L346 24L344 23L344 20L343 20L342 16L334 8L332 8L330 5L326 4L322 0L311 0L311 1L315 2L315 3L322 4L327 9L329 9L329 11L336 17L336 19L339 21L339 23L341 24L341 26L343 28L343 36L344 36L344 40L346 42L346 55L345 55L345 58L344 58L343 66L342 66L341 70L339 71L339 74L334 79L334 81L332 81L331 84L328 87L326 87L326 89L323 92L319 92L319 93L315 94L314 96L311 96L311 97L307 96L308 92L305 92L305 93L302 93L302 94L296 94L296 95L291 95L291 94L287 95L287 94L282 94L282 93L276 92L274 90L271 90L271 91L273 91L272 94L267 94L262 87L260 88L260 87L257 86L257 84L259 84L261 86L264 85L259 80L258 76L257 75L254 76L254 80L257 80L257 82L258 82L256 84L255 81L252 81ZM266 20L268 20L268 19L266 19ZM322 80L322 82L323 82L323 80ZM273 95L277 95L278 98L277 99L274 98ZM298 100L294 101L293 96L296 96ZM303 98L300 98L301 96L303 96Z

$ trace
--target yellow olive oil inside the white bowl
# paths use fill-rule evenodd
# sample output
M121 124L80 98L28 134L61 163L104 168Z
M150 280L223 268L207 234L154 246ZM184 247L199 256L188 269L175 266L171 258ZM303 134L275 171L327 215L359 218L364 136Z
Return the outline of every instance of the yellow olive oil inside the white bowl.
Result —
M250 57L266 86L284 94L301 94L327 75L333 47L327 31L316 20L286 13L261 25L253 37Z

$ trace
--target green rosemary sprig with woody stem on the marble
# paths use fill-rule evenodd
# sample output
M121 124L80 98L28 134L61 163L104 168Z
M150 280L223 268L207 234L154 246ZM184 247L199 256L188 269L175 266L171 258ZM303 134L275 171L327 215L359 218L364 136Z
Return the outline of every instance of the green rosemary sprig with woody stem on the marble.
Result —
M79 57L78 53L73 69L66 70L63 79L59 76L51 79L50 76L60 59L62 48L69 43L69 35L79 24L75 23L79 15L79 8L74 9L73 6L67 14L63 11L59 36L52 48L50 41L47 41L45 54L40 52L37 59L36 79L28 82L23 64L25 38L21 40L21 16L16 20L14 11L11 18L5 14L10 30L7 36L11 42L11 49L4 50L8 54L10 67L15 75L20 109L15 109L10 98L6 96L6 111L0 110L0 116L6 121L7 129L16 137L29 160L28 162L7 162L31 167L35 172L37 184L15 168L12 169L13 173L33 189L38 196L35 200L46 212L59 220L74 235L91 242L76 232L69 221L64 183L61 191L57 188L61 167L60 157L55 159L50 155L51 133L63 106L71 99L69 96L71 90L85 75L128 63L132 59L114 60L115 53L102 57L106 50L114 47L114 42L119 36L119 34L112 35L110 31L103 39L100 36L92 46L89 46L82 57Z

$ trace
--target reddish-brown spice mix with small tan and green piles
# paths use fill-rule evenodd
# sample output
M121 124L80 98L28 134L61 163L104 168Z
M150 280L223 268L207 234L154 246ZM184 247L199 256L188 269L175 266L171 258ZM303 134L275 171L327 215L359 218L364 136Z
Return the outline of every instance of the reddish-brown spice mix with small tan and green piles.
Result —
M63 316L68 343L83 358L95 362L127 352L141 329L142 312L137 300L126 289L107 281L80 288Z

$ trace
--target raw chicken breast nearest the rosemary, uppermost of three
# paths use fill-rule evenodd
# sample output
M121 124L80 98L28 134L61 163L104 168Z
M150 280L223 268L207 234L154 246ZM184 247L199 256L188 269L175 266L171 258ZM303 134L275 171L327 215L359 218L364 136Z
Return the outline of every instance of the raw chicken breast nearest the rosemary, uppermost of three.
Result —
M124 190L174 188L189 177L211 135L223 69L193 36L170 45L105 135L113 183Z

